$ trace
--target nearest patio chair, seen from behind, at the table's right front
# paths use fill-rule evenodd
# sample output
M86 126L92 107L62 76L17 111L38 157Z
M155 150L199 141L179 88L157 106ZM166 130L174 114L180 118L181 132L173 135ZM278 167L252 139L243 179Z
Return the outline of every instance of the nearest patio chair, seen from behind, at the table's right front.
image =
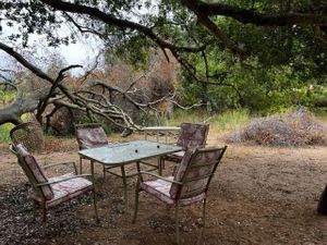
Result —
M133 223L136 220L138 210L138 193L145 191L168 206L174 206L175 240L180 244L180 206L203 201L203 229L198 237L201 240L205 228L208 187L226 149L227 146L222 148L187 149L174 176L162 177L154 173L140 171L136 184ZM144 181L144 175L155 176L156 180Z

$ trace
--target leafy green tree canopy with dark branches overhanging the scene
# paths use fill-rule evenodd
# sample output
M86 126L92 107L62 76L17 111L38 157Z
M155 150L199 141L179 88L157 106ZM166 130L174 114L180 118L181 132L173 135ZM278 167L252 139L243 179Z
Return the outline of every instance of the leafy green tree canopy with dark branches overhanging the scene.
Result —
M219 99L251 107L269 98L293 103L291 91L326 81L323 0L4 0L0 16L1 25L15 29L9 39L23 46L31 34L56 46L82 33L99 36L134 63L148 59L153 47L170 50L183 68L185 96L214 106Z

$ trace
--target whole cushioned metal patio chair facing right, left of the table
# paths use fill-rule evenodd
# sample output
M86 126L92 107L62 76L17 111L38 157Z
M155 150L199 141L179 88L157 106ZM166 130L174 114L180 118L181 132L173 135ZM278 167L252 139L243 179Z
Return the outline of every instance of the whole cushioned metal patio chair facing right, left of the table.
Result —
M59 164L72 164L74 167L75 174L66 173L48 179L45 174L44 168L38 164L33 155L31 155L22 144L13 144L10 148L11 151L16 155L19 164L32 184L33 192L31 198L34 200L35 206L40 208L44 222L47 220L48 209L88 192L93 193L95 216L98 221L94 184L92 181L85 179L86 176L90 176L90 174L76 175L77 169L74 162L60 162L49 164L44 168L48 169Z

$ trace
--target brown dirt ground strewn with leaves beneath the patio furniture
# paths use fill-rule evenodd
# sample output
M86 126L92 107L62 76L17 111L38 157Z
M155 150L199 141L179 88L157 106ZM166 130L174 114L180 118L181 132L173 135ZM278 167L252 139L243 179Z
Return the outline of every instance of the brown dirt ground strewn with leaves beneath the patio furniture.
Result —
M208 143L223 144L217 135L210 135ZM78 160L74 139L49 139L46 149L38 159ZM124 212L121 180L112 175L104 180L100 166L96 169L100 222L94 220L92 197L86 196L50 210L48 222L43 223L33 212L26 177L7 144L0 144L0 152L1 245L174 243L173 210L142 194L137 221L132 224L136 180L129 180ZM327 147L230 144L210 185L203 244L327 244L327 217L316 212L326 183ZM182 208L182 244L195 244L199 217L201 206Z

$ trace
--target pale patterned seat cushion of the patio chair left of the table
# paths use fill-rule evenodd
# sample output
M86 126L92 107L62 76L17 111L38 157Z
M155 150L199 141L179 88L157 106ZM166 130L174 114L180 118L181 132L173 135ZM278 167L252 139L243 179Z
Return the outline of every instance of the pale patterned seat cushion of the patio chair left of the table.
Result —
M61 176L50 177L49 182L60 181L66 177L74 176L72 173L68 173ZM51 184L53 192L53 198L46 201L46 208L50 208L58 204L64 203L75 196L81 195L93 189L93 184L85 177L76 177L68 181ZM34 199L41 203L40 198L34 195Z

